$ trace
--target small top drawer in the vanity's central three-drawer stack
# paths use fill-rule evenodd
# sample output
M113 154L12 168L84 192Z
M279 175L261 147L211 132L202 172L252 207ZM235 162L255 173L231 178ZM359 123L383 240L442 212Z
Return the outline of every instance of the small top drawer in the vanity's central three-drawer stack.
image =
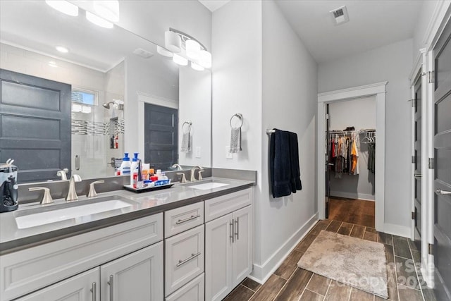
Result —
M204 202L164 212L164 237L168 238L204 223Z

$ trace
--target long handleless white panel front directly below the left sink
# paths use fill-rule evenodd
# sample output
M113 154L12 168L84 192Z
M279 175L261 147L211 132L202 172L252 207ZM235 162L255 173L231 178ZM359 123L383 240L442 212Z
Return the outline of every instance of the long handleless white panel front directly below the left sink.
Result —
M0 301L11 300L163 240L163 214L0 256Z

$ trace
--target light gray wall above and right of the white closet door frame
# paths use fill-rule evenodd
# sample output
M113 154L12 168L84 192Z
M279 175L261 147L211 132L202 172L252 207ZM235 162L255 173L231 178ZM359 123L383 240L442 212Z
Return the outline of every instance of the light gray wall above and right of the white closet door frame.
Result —
M319 92L388 80L385 104L385 231L409 233L412 39L319 65ZM376 145L377 147L377 145ZM377 164L377 162L376 162ZM394 226L392 226L394 225ZM408 227L408 229L407 229ZM403 232L404 233L404 232Z

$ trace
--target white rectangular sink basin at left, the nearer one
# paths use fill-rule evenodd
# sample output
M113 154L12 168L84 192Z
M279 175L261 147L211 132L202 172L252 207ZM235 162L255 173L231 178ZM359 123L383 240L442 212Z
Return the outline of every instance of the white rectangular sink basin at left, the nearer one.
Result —
M76 219L82 216L88 216L91 214L97 214L131 206L132 204L124 202L121 199L110 199L104 202L82 204L80 206L66 207L51 211L43 211L23 216L16 216L16 223L19 229L31 228L46 225L47 223Z

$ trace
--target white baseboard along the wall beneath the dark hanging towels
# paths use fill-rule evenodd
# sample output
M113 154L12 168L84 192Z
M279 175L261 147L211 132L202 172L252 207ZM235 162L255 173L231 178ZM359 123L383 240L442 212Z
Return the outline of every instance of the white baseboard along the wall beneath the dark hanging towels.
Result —
M276 269L282 264L283 260L290 254L290 252L297 246L297 244L302 240L302 238L309 233L311 228L315 225L318 218L319 212L316 212L311 218L304 223L293 235L288 238L288 240L276 250L264 264L254 264L254 269L252 274L248 277L253 281L257 281L258 283L265 283L266 280L271 276L271 274L276 271Z

